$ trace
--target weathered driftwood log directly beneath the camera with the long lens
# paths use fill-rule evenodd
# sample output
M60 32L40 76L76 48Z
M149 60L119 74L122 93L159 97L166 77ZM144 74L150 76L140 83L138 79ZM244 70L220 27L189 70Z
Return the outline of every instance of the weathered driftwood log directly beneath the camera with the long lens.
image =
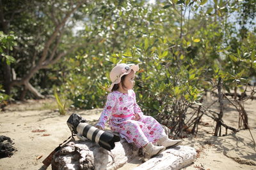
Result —
M125 139L109 152L92 141L71 141L52 157L52 169L118 169L138 156L138 148Z

